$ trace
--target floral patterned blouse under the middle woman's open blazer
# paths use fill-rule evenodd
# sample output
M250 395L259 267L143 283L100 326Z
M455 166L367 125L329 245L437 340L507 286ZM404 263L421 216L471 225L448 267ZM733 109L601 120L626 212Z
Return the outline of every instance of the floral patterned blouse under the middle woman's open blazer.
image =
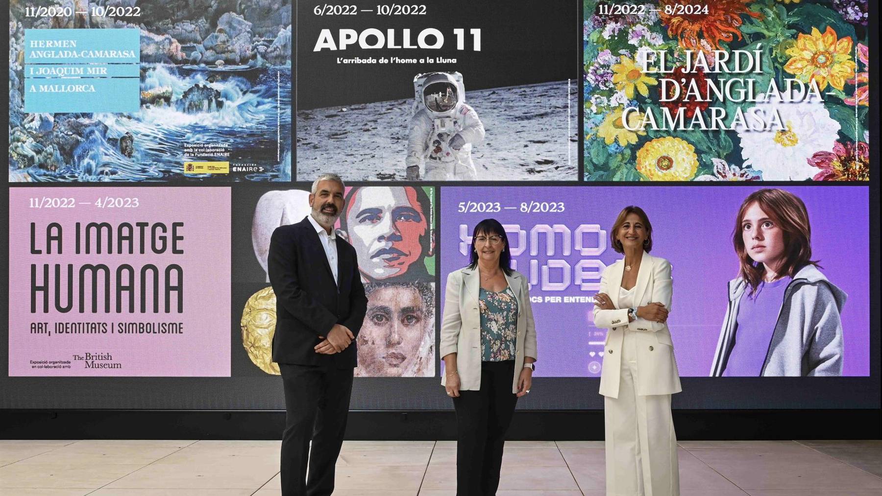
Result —
M518 336L518 299L512 288L494 292L481 288L481 353L483 361L513 360Z

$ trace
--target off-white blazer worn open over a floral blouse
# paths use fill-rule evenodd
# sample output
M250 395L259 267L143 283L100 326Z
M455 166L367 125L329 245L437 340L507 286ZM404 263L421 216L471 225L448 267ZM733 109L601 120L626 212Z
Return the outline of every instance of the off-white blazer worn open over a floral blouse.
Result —
M524 357L538 358L536 327L533 308L530 307L530 295L527 291L527 278L520 272L512 270L512 275L505 276L505 279L518 299L518 334L515 340L512 378L512 393L517 393ZM447 276L439 351L442 359L450 353L456 353L460 390L464 391L481 389L481 311L478 309L480 291L481 277L477 269L466 267L454 270ZM441 383L444 385L447 383L446 372Z

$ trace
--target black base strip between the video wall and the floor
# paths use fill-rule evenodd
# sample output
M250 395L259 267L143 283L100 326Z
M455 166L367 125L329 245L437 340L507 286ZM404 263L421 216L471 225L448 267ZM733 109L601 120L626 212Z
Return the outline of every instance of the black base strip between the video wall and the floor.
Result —
M675 410L678 440L882 439L882 410ZM0 439L278 440L284 411L2 410ZM350 411L347 440L455 440L453 411ZM603 440L603 411L516 411L509 440Z

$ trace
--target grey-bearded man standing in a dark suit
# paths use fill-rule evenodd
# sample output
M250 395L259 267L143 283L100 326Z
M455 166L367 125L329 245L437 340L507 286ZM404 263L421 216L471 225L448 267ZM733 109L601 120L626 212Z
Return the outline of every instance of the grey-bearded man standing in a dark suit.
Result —
M281 441L285 496L333 492L334 465L346 431L358 356L355 337L368 300L355 248L333 229L343 196L340 176L322 174L312 183L310 215L276 228L270 241L267 269L276 295L273 361L279 364L287 410Z

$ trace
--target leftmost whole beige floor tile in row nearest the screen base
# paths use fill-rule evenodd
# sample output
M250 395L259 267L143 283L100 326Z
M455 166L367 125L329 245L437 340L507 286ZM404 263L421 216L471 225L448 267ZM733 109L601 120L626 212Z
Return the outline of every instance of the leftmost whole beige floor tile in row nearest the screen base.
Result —
M179 448L152 446L108 446L75 443L36 455L19 463L71 465L147 465Z

